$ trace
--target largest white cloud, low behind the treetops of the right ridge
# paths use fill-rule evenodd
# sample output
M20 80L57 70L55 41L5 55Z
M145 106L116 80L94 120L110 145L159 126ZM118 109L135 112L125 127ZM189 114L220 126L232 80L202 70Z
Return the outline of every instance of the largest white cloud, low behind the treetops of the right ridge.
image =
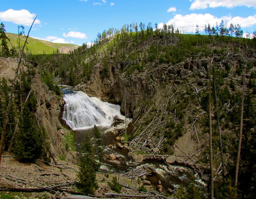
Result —
M203 30L205 25L210 24L211 26L215 26L216 22L219 24L221 20L226 21L228 26L229 24L240 24L242 28L251 27L256 24L256 15L249 16L246 18L243 17L232 17L231 15L223 16L218 18L211 14L189 14L189 15L181 15L177 14L172 19L170 19L166 25L171 25L175 23L176 29L178 28L180 31L185 33L194 32L196 25L199 26L200 30ZM162 28L164 23L159 23L158 27Z

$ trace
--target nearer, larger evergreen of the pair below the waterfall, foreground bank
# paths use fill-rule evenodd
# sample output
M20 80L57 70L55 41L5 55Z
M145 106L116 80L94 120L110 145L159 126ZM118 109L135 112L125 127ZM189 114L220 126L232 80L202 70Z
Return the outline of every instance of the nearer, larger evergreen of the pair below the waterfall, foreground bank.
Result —
M81 164L77 174L77 188L85 194L93 194L98 188L95 174L94 150L88 133L85 135L84 144L81 147Z

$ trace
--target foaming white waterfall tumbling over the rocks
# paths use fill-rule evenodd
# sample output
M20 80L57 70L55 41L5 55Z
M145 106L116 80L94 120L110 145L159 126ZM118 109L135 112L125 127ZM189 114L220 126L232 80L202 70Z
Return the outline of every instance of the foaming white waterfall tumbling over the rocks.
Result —
M101 101L98 98L90 98L82 91L72 92L63 96L64 106L63 119L72 130L82 130L97 126L111 126L113 116L121 115L120 106Z

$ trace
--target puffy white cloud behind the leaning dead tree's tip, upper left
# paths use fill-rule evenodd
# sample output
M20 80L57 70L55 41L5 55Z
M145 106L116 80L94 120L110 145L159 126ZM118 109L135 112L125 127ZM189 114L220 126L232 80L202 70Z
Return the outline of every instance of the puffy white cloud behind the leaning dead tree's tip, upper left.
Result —
M6 22L13 22L15 24L22 24L24 26L31 26L36 14L30 13L28 10L13 10L9 9L0 12L0 20ZM36 19L34 24L40 24L41 21Z

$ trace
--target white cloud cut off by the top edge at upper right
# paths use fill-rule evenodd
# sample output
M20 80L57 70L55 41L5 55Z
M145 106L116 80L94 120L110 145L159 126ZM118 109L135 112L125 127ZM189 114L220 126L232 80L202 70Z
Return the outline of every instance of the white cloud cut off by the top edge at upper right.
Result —
M190 0L192 1L192 0ZM190 10L226 7L233 8L236 6L247 6L256 8L255 0L193 0Z

